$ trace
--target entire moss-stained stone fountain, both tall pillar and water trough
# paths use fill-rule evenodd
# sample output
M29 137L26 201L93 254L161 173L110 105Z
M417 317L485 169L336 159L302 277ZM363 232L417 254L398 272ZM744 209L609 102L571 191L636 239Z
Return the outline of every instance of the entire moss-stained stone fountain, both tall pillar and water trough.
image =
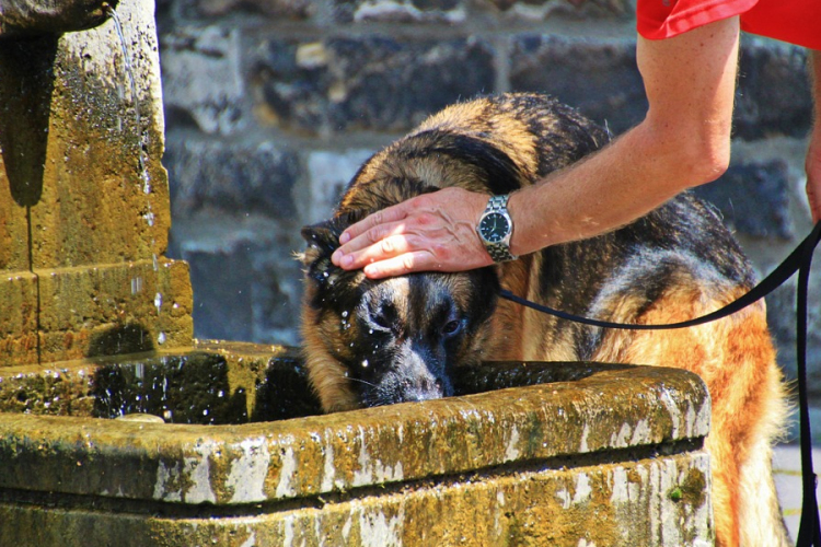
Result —
M0 546L712 544L684 371L319 416L293 348L193 340L159 74L150 0L0 0Z

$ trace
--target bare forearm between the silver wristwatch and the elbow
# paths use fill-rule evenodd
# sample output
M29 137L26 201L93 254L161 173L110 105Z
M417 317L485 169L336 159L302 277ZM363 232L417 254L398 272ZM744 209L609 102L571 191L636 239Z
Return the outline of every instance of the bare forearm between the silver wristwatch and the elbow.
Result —
M589 159L514 194L513 254L615 230L680 191L717 178L724 161L698 156L645 120Z

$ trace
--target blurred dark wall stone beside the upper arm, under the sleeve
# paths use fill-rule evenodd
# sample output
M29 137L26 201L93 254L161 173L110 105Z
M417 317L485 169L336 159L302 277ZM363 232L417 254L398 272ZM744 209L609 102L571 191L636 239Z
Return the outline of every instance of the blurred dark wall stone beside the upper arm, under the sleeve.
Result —
M590 42L548 35L512 39L514 91L548 93L620 133L647 112L644 84L629 40Z

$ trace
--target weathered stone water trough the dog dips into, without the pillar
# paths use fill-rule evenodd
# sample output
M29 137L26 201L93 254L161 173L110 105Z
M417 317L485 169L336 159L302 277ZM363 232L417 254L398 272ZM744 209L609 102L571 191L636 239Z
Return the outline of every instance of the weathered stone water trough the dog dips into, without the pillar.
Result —
M0 545L710 545L709 404L680 370L493 363L315 416L281 348L57 366L0 377Z

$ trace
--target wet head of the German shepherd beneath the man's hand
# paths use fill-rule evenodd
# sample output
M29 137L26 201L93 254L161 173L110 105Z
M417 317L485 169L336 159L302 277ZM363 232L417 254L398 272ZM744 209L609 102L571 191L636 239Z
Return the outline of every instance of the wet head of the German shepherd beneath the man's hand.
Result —
M496 306L493 268L370 280L331 261L356 216L305 226L302 335L326 411L453 394L450 371L481 360Z

